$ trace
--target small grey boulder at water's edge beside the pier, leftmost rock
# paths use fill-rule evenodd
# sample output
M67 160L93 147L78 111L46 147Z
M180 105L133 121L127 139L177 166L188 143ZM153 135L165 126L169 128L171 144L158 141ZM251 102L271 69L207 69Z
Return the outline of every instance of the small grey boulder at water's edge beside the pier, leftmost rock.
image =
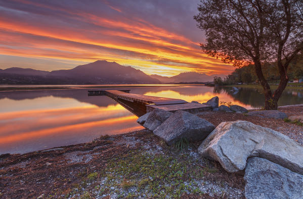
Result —
M165 111L163 109L155 108L150 112L143 127L148 130L155 130L158 126L160 126L167 118L172 115L171 112Z

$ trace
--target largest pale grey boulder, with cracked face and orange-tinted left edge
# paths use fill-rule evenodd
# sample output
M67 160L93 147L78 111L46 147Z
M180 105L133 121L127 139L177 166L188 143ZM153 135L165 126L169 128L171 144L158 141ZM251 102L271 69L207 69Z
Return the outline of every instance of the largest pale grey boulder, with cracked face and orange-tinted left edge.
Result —
M303 146L269 128L247 121L223 122L201 143L198 152L228 172L245 168L248 157L262 157L303 174Z

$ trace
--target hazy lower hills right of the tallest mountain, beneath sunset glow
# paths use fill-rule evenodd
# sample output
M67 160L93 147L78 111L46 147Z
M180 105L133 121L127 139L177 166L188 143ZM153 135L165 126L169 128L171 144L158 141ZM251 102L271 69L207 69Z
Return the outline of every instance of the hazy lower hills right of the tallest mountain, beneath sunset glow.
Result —
M163 77L157 74L150 75L153 78L159 79L162 83L179 83L179 82L212 82L214 76L224 77L225 75L207 75L198 72L182 72L176 76Z

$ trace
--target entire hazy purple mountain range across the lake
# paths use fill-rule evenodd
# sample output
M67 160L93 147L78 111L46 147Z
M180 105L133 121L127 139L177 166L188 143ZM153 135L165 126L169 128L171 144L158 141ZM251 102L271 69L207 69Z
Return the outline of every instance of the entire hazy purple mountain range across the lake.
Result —
M161 84L212 82L215 75L197 72L183 72L176 76L165 77L148 75L131 66L116 62L98 60L67 70L43 71L31 68L12 67L0 69L0 84ZM222 76L222 75L217 75Z

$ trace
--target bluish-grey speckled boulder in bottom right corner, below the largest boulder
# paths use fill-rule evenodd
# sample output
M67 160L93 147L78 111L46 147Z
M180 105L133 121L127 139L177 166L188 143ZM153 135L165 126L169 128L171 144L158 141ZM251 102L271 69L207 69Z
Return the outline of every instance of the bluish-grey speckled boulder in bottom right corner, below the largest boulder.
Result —
M264 158L247 160L244 180L246 199L303 198L303 176Z

